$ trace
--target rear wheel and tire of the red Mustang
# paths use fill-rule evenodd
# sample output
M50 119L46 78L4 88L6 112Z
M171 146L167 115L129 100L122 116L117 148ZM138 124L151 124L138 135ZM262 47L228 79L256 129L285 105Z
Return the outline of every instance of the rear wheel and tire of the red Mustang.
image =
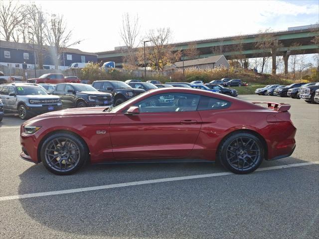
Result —
M254 134L236 132L223 139L220 145L218 159L233 173L251 173L263 161L265 149L261 140Z

